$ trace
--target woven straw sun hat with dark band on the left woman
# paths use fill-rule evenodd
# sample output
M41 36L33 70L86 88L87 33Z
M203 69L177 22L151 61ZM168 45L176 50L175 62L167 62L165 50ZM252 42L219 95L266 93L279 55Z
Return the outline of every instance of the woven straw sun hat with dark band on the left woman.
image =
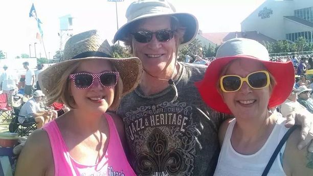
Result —
M56 63L38 75L39 85L44 94L49 94L56 88L58 79L74 62L90 59L110 61L117 69L123 81L125 95L137 87L142 74L142 64L139 58L108 58L108 47L105 46L97 30L91 30L72 36L64 46L61 62ZM107 44L108 45L108 44Z

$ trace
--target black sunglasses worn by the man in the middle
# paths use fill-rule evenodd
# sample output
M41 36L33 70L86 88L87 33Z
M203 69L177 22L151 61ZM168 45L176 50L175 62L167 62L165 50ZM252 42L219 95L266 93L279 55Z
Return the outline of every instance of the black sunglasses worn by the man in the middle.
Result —
M133 35L133 38L135 38L136 41L140 43L147 43L151 41L152 35L155 34L155 37L158 39L160 42L165 42L169 41L174 37L174 30L169 30L169 29L162 29L157 32L151 32L151 31L137 31L134 33L131 33Z

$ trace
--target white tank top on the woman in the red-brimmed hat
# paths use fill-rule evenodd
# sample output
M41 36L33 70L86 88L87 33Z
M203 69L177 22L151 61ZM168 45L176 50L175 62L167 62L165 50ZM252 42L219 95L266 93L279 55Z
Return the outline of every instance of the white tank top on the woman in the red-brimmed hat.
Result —
M263 147L253 155L242 155L234 150L231 145L231 136L236 120L233 119L226 131L224 142L219 153L218 163L214 175L232 175L232 176L260 176L264 168L270 161L270 158L275 151L278 143L285 135L288 128L284 126L285 119L281 115L274 113L272 116L278 116L275 127L271 135L266 140ZM282 167L282 156L285 150L283 145L277 155L268 176L286 175Z

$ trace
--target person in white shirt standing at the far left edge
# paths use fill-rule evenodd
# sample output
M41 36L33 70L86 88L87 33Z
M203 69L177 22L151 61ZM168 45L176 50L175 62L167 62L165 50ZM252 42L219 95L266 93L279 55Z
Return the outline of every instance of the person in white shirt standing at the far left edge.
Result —
M2 87L3 93L7 94L9 101L13 102L13 93L16 88L17 76L16 74L8 70L8 65L3 66L4 72L0 76L0 86Z

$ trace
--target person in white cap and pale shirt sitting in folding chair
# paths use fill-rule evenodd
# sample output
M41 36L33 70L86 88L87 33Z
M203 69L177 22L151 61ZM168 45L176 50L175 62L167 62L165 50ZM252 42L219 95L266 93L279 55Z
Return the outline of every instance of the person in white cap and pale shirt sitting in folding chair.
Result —
M40 108L40 102L44 94L42 91L35 91L33 98L28 100L20 109L18 115L18 122L23 123L37 123L37 129L41 128L44 124L48 123L55 113L52 111L42 111Z

